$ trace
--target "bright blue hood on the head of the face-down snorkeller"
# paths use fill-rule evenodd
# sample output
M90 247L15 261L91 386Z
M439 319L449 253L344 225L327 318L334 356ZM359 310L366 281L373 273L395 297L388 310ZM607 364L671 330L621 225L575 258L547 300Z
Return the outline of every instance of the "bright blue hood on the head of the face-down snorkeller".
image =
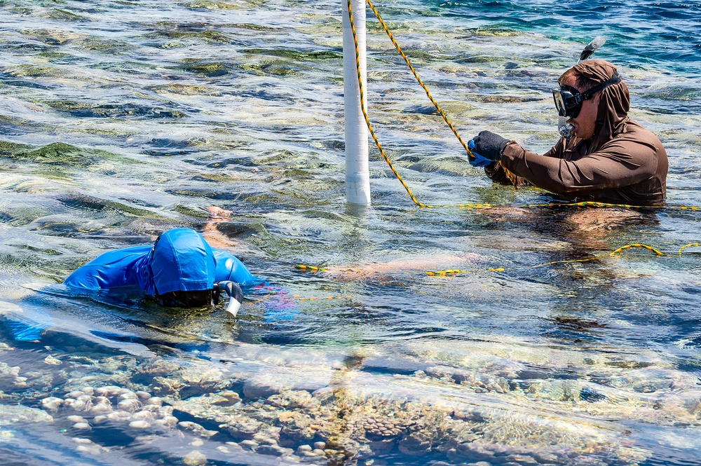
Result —
M149 294L193 292L212 289L217 261L205 238L190 228L175 228L161 234L149 255L154 290Z

